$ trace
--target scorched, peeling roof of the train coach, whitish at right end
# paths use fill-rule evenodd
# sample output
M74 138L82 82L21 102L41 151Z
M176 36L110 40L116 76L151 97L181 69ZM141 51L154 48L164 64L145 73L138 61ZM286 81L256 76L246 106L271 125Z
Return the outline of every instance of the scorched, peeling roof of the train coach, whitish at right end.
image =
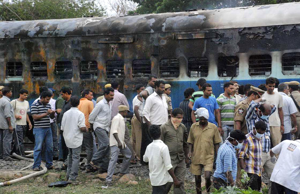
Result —
M0 22L0 38L201 31L300 23L300 2L123 17ZM288 10L288 11L287 11Z

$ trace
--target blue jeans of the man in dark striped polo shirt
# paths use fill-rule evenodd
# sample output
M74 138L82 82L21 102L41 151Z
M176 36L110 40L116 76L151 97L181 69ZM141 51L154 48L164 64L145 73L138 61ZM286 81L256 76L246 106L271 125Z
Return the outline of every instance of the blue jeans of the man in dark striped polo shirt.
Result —
M51 128L33 128L33 135L35 138L33 159L34 164L32 168L38 168L41 165L42 145L45 142L46 146L46 167L53 165L53 140Z

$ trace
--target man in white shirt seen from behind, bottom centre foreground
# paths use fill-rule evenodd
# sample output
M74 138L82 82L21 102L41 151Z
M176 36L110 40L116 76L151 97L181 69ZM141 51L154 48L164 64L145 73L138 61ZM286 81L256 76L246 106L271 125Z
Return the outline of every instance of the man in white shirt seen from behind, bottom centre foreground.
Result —
M149 134L153 138L153 142L147 146L143 160L149 162L152 194L168 194L173 182L174 187L180 187L181 182L177 180L172 170L173 166L168 146L160 140L161 130L159 125L151 125Z

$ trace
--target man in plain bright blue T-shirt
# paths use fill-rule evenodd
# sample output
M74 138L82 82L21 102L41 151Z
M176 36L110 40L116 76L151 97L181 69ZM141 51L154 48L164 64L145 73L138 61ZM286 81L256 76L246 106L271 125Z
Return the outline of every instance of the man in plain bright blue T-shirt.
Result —
M199 121L199 119L196 119L195 117L195 111L198 108L206 108L209 113L209 119L208 122L215 124L218 126L218 130L220 134L223 134L222 125L221 125L221 114L219 110L219 105L217 103L217 99L212 97L212 85L210 84L203 84L202 85L203 90L203 96L198 98L193 106L192 110L192 121L193 123L196 123Z

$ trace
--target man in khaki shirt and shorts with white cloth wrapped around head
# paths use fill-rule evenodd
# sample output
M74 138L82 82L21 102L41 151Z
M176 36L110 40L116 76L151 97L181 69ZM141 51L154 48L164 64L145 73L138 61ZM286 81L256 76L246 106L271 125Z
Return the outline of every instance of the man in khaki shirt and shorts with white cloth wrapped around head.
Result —
M197 109L195 114L199 122L192 124L187 139L188 157L192 159L190 172L195 175L196 192L201 194L201 174L204 168L205 187L209 193L214 153L217 154L222 140L217 126L207 121L209 114L206 108Z

